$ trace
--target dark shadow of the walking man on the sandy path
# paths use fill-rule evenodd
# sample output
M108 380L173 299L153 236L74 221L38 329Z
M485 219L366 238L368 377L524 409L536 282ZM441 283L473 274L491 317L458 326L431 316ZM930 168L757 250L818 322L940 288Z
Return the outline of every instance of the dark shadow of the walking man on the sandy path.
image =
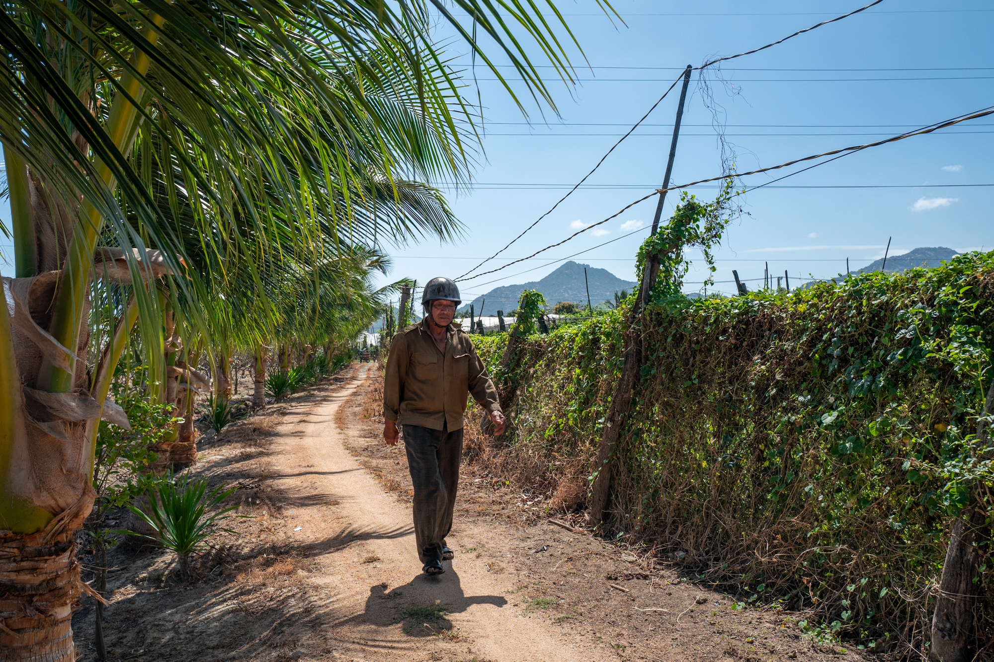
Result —
M426 637L442 630L452 631L448 614L462 613L473 604L503 607L502 595L466 595L459 575L449 568L440 577L417 575L408 583L387 590L387 584L370 587L366 600L366 620L374 625L404 623L405 634Z

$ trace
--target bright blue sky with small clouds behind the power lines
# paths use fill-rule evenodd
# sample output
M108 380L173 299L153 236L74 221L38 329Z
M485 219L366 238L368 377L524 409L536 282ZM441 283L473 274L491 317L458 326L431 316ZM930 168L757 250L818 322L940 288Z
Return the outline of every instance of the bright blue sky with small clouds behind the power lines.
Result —
M525 117L493 76L477 68L486 117L484 151L475 185L450 197L465 238L443 246L386 247L394 255L390 279L410 276L423 283L435 275L459 275L504 246L578 182L686 65L761 46L860 4L703 0L688 9L687 3L617 0L615 8L627 25L612 25L592 0L560 2L592 70L580 67L583 61L575 52L579 85L552 84L560 115L531 105ZM709 73L738 169L870 142L994 104L992 28L990 3L886 0L733 61L720 77ZM450 54L457 58L465 50L457 42L452 47ZM508 258L502 255L480 270L559 242L658 188L676 91L604 162L588 180L591 186L508 248ZM994 184L988 172L992 137L994 116L865 150L778 183L804 188L770 186L746 194L747 215L729 229L717 252L717 279L731 280L732 269L746 279L761 278L766 261L774 274L788 270L791 284L809 275L831 277L845 270L846 257L859 268L882 256L889 237L891 254L924 246L994 248L994 187L964 186ZM673 183L718 174L713 114L695 76ZM757 175L745 184L782 174ZM716 191L701 187L694 193L710 198ZM675 192L669 194L667 214L678 199ZM654 200L642 203L598 229L606 232L587 232L541 258L462 282L463 296L537 280L558 266L554 260L588 248L573 259L633 279L635 251L647 235L654 207ZM0 214L8 218L6 202ZM622 238L640 225L641 232ZM598 246L610 240L617 241ZM2 268L4 274L12 270ZM698 290L694 281L705 277L697 260L685 290ZM735 285L719 282L715 288L732 293Z

